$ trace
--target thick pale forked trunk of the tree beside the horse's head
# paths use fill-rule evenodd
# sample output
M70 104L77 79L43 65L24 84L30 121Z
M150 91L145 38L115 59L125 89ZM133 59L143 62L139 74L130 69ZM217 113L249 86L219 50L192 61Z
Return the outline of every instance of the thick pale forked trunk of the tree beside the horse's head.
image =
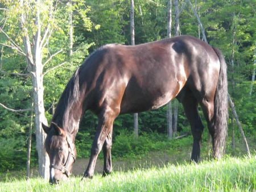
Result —
M20 1L20 6L23 7L23 1ZM44 87L43 87L43 64L42 64L42 47L41 41L41 23L40 23L40 1L35 1L36 15L34 18L36 33L33 36L33 43L30 41L30 36L27 30L27 18L24 13L21 14L21 24L24 33L23 44L26 53L28 72L32 74L33 98L34 98L34 113L35 113L35 130L36 130L36 149L38 151L38 166L39 176L49 178L49 158L44 149L44 140L46 133L42 128L42 123L47 124L47 119L44 111ZM31 46L32 45L32 46Z

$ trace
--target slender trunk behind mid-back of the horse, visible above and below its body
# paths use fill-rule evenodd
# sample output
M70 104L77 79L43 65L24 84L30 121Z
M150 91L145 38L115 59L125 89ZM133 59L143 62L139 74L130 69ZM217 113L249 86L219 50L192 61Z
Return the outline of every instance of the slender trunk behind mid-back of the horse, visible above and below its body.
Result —
M135 32L134 32L134 1L131 0L131 11L130 11L130 19L131 19L131 45L135 45ZM134 135L138 137L139 135L139 117L138 113L133 115L134 119Z

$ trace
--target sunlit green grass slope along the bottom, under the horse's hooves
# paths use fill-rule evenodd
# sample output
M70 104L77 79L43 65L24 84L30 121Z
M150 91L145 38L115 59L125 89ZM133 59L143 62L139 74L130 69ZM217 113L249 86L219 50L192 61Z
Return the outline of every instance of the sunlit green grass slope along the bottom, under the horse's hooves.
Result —
M256 156L226 157L200 164L167 165L164 168L114 172L102 178L80 181L71 177L59 185L40 178L0 182L0 191L255 191Z

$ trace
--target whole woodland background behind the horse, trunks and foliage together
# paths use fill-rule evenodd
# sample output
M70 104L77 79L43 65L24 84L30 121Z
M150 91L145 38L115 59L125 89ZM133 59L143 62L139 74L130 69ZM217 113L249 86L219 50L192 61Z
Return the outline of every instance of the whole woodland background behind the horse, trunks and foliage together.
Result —
M235 107L229 113L229 155L246 154L243 136L251 153L256 149L255 9L251 0L134 1L135 44L177 35L204 40L205 35L224 54ZM109 43L133 43L130 15L129 0L0 0L0 173L44 163L38 158L44 138L40 123L50 123L67 82L90 53ZM96 126L97 117L87 111L76 137L80 158L89 157ZM138 114L138 137L133 114L119 116L113 156L136 157L170 146L175 151L187 137L192 140L189 123L174 100ZM175 144L156 146L156 140Z

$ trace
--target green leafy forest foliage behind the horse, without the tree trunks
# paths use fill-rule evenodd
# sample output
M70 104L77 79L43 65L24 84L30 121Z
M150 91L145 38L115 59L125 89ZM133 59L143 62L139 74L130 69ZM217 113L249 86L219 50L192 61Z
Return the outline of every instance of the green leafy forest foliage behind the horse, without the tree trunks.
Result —
M24 4L26 3L27 1L24 1ZM43 18L42 28L48 24L52 28L51 37L46 48L43 49L43 62L46 62L56 52L62 51L52 57L44 66L44 72L64 62L65 64L44 76L44 102L48 121L52 118L53 108L56 106L68 80L89 53L107 43L130 44L130 1L75 0L71 7L67 6L66 3L57 3L54 5L56 6L55 16L51 18L48 9L52 3L48 0L42 1L40 6L40 9L42 9L40 16ZM179 1L179 7L183 3L185 1ZM200 14L209 44L220 48L225 55L229 73L229 93L236 105L245 135L251 140L249 145L255 149L255 83L253 84L253 93L249 95L251 75L253 69L255 70L255 56L253 56L256 50L254 2L235 0L195 1L192 3ZM20 30L21 12L26 11L26 16L30 18L27 27L31 38L35 35L36 30L35 20L33 19L36 12L36 9L33 9L34 4L33 6L28 4L24 6L26 9L20 7L19 1L4 0L0 3L1 29L22 50L24 49L22 42L24 34ZM201 30L191 7L187 4L182 7L183 10L180 13L181 34L201 38ZM73 56L69 57L68 12L71 10L73 11L74 44ZM173 7L172 34L174 34L174 12ZM166 25L166 0L135 1L135 44L165 38L167 34ZM10 39L0 32L0 43L11 45ZM27 73L26 57L19 55L17 49L2 45L0 48L0 102L10 108L31 108L31 77L20 77L13 74ZM24 167L26 158L24 153L26 144L24 141L27 140L26 132L28 126L30 126L30 116L31 112L18 114L0 108L0 148L4 144L5 148L8 149L4 150L3 148L2 153L0 152L1 170ZM201 116L203 117L203 115ZM181 106L179 106L177 124L178 130L182 132L190 130ZM205 122L204 124L206 126ZM176 149L191 145L191 136L182 140L169 141L166 136L161 135L161 133L166 135L166 125L166 107L150 112L142 112L139 114L139 138L135 139L133 133L131 133L131 130L133 130L133 115L119 116L114 122L114 157L143 156L149 151L158 151L162 148L176 154ZM86 112L76 137L79 157L89 156L96 127L97 117L91 112ZM205 132L207 132L207 129L205 129ZM229 135L232 135L231 130L229 130ZM237 143L241 142L239 135L240 132L236 129ZM253 138L251 139L251 137ZM203 140L208 140L207 133L205 133ZM228 146L230 146L230 140L229 137ZM35 162L34 140L32 145L32 161ZM231 151L232 149L228 147L228 150ZM241 148L236 150L237 153L242 153ZM16 151L20 152L18 156L15 156L16 153L14 152Z

